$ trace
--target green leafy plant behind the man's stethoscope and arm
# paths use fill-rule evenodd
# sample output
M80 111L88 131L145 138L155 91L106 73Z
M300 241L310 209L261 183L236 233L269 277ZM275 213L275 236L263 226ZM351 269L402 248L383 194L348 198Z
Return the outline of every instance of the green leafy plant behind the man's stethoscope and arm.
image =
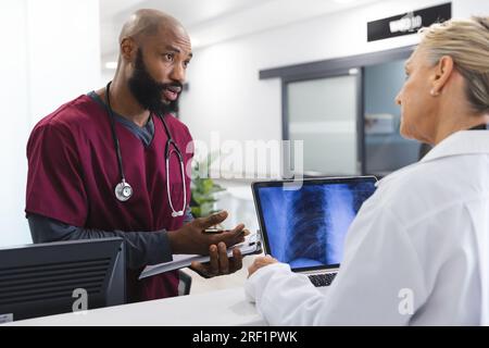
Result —
M205 160L193 162L190 209L195 217L206 217L215 213L215 194L226 190L210 177L210 167L215 159L215 153L210 153Z

